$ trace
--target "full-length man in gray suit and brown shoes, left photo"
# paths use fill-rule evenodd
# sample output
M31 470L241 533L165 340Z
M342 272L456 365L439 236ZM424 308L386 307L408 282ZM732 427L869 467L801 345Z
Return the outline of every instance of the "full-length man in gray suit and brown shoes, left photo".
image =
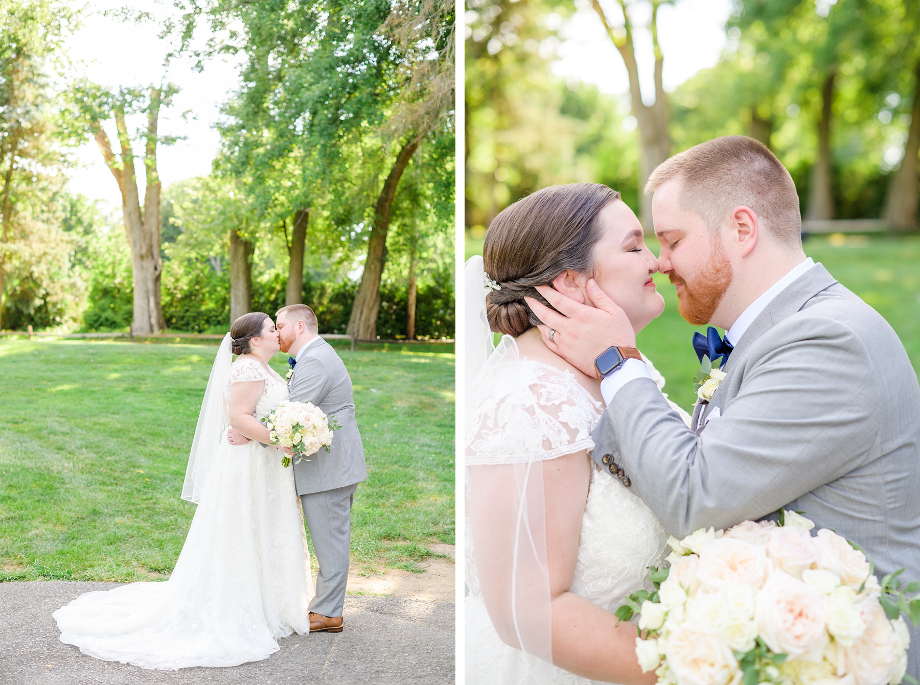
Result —
M316 314L305 304L278 310L275 327L282 352L291 354L291 401L312 402L341 426L333 434L328 453L321 450L310 461L292 464L306 530L319 564L316 597L310 602L310 633L340 633L348 582L351 504L355 488L367 478L351 377L336 351L319 337Z

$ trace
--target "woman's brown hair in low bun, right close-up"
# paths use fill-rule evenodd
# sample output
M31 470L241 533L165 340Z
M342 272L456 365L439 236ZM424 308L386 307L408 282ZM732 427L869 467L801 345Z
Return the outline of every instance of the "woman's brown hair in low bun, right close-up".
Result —
M483 268L500 290L486 296L493 331L518 337L542 322L524 296L550 306L536 291L563 271L589 273L603 235L598 213L620 199L600 183L569 183L537 190L500 211L482 248Z

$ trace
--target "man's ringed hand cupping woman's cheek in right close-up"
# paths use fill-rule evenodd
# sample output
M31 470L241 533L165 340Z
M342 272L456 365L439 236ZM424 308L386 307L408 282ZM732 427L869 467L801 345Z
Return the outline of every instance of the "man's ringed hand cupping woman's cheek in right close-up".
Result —
M557 310L554 312L534 298L524 298L543 322L537 326L543 342L582 373L595 376L594 360L607 348L636 347L636 334L626 312L593 279L587 288L593 307L577 303L546 285L536 290ZM550 330L555 330L552 340Z

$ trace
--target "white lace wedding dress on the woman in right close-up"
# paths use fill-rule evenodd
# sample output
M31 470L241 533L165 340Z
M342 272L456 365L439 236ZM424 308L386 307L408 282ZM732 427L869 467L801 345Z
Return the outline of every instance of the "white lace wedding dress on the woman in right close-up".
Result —
M646 363L659 388L663 387L661 374L648 360ZM467 392L471 390L467 462L543 462L594 446L591 431L601 417L602 405L571 372L522 357L511 337L502 338L484 375ZM689 422L686 412L672 406ZM467 469L467 498L469 474ZM593 467L570 590L606 611L616 611L636 590L651 589L646 579L648 567L661 565L667 537L641 499L620 480ZM591 682L547 661L528 658L500 640L479 587L469 518L465 552L466 682Z

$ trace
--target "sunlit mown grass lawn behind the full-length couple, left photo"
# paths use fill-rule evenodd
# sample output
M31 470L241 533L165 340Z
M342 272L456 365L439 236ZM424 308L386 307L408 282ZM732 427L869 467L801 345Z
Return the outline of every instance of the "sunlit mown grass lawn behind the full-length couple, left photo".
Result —
M364 572L418 571L429 543L454 543L454 355L402 347L337 348L369 473L352 511ZM215 352L0 341L0 581L167 577L195 509L179 493Z

